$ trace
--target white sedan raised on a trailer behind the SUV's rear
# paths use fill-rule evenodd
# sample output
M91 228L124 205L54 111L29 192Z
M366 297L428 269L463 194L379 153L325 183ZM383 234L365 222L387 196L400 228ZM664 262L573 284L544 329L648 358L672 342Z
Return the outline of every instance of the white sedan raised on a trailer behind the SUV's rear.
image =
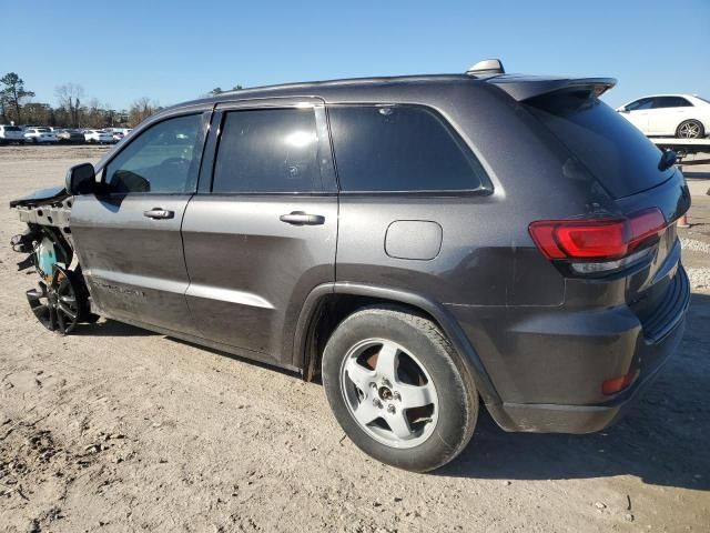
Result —
M693 94L656 94L617 108L648 137L702 139L710 133L710 101Z

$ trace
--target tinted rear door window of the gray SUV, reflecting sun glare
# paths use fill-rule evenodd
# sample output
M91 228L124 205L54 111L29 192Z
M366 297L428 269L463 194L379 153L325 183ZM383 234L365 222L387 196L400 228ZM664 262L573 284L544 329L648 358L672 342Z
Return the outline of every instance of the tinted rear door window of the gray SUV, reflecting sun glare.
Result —
M212 192L320 192L313 108L226 113Z

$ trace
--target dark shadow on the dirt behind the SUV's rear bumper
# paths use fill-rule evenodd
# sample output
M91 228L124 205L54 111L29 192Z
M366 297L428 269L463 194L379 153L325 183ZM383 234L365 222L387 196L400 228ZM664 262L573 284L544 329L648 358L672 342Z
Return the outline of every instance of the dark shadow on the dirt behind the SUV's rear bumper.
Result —
M506 433L483 413L464 453L438 475L566 480L635 475L710 491L710 295L693 294L686 335L635 408L588 435Z

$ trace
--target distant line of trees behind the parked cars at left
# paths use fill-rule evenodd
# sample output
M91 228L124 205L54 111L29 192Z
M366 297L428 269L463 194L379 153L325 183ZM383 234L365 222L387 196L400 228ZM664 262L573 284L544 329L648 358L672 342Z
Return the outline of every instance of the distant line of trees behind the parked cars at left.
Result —
M52 125L59 128L133 128L162 109L149 98L139 98L129 109L115 110L98 99L85 100L77 83L64 83L54 91L57 105L34 102L34 92L24 87L16 72L0 78L0 123Z

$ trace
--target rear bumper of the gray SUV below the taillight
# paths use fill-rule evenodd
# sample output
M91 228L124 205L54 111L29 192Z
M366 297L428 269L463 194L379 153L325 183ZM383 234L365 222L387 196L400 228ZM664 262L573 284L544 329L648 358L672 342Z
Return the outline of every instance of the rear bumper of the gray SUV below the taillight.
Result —
M663 305L643 323L625 306L582 316L539 310L535 319L516 316L503 332L514 338L507 345L476 346L501 398L488 411L506 431L590 433L608 426L678 349L689 302L690 283L679 265ZM463 325L473 329L470 321ZM507 350L490 353L494 346ZM601 394L605 380L628 371L638 371L630 386Z

